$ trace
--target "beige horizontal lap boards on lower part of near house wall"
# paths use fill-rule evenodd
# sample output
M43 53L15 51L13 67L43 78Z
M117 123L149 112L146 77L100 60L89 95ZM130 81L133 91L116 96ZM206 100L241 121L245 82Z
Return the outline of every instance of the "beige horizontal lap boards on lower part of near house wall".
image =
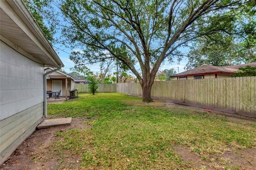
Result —
M39 103L0 122L0 164L35 131L43 120L43 106Z

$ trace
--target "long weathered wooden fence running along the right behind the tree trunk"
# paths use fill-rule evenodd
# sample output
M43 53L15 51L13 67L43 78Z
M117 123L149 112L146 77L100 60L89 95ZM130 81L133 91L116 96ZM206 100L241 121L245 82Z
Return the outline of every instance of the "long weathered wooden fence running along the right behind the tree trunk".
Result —
M118 83L117 92L142 96L139 83ZM256 117L256 77L156 81L151 97Z

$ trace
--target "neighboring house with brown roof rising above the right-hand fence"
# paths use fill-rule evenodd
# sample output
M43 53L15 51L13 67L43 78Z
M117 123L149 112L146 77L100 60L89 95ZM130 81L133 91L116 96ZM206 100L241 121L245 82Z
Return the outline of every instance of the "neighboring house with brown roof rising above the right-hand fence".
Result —
M256 67L256 63L229 65L229 66L212 66L201 65L195 69L191 69L179 74L171 76L171 80L187 80L187 79L211 79L211 78L227 78L239 69L239 67L252 66Z

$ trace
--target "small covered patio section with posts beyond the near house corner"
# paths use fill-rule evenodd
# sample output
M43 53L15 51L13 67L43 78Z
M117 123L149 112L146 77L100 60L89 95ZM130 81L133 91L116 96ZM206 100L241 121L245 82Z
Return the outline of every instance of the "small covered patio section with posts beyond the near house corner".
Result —
M53 70L47 68L46 70ZM74 90L74 78L61 71L54 71L47 75L47 91L61 91L60 96L69 96L69 90Z

